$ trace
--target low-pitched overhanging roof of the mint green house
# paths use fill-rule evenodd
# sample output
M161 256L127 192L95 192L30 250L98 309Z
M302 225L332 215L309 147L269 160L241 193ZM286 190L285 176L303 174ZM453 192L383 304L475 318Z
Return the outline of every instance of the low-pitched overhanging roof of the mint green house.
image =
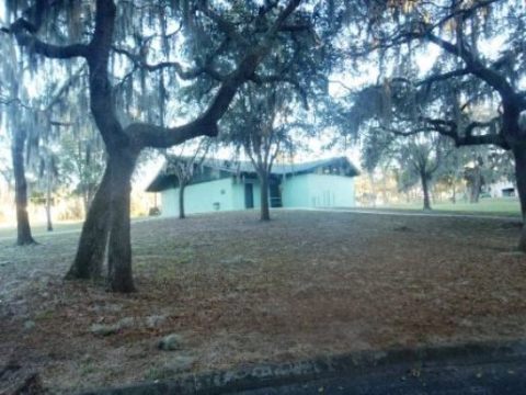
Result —
M148 192L160 192L170 188L176 188L179 182L174 173L167 171L169 169L170 161L184 160L186 158L168 157L167 162L156 176L153 181L146 189ZM202 169L215 170L215 177L206 177L202 172L202 177L194 177L192 183L199 183L211 181L214 179L228 178L232 176L255 176L255 169L250 161L232 161L224 159L206 159L199 167ZM288 177L298 176L317 171L319 168L325 169L327 173L332 173L332 169L345 177L355 177L359 173L358 169L351 163L346 157L336 157L330 159L320 159L304 163L286 163L274 165L272 167L271 177Z

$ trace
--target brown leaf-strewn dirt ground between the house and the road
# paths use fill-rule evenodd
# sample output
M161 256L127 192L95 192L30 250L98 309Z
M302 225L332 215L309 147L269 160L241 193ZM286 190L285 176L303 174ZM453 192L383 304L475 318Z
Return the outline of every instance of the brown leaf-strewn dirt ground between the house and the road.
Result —
M512 221L258 213L133 226L138 292L65 282L78 234L0 242L0 366L52 393L526 334ZM101 328L114 328L102 334ZM178 350L159 350L176 334Z

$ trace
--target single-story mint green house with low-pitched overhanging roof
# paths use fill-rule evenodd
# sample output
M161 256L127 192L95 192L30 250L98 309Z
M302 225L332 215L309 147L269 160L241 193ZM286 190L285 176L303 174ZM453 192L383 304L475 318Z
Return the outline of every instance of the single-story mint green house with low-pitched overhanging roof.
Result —
M170 160L176 159L169 157L147 188L148 192L161 193L163 216L179 214L179 180L169 170ZM268 180L270 205L352 207L357 174L356 167L345 157L274 165ZM207 159L195 165L194 177L184 190L184 208L186 214L255 208L260 206L260 182L251 162Z

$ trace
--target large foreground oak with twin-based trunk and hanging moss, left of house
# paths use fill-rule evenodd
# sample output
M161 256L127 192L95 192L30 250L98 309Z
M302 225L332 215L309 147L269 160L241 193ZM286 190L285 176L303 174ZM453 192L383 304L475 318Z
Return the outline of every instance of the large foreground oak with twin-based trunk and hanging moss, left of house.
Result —
M129 192L140 151L216 136L218 121L245 81L282 77L267 67L260 74L268 54L286 46L294 71L298 37L312 33L309 13L299 7L300 0L35 0L23 10L19 3L8 2L12 22L3 32L32 57L87 65L90 112L107 153L68 276L100 276L107 246L110 287L134 291ZM170 95L192 80L194 91L209 99L205 109L165 126Z

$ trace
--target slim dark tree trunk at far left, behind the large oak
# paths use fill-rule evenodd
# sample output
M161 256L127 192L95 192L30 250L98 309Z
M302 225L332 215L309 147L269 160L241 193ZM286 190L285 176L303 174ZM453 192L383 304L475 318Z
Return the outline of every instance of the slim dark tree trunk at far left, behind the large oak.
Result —
M16 245L35 244L31 234L30 217L27 215L27 182L24 169L24 146L27 133L18 129L13 136L12 160L14 172L14 202L16 204Z

